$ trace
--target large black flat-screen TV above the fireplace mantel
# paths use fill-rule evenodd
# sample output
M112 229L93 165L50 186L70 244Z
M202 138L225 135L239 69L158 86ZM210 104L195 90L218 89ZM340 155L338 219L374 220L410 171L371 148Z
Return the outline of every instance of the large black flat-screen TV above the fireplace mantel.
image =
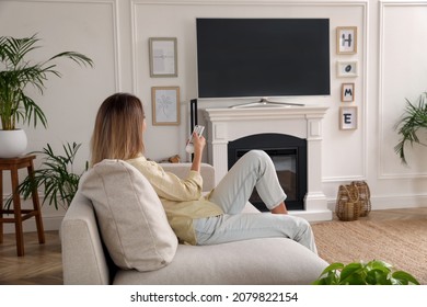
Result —
M197 19L199 98L330 94L328 19Z

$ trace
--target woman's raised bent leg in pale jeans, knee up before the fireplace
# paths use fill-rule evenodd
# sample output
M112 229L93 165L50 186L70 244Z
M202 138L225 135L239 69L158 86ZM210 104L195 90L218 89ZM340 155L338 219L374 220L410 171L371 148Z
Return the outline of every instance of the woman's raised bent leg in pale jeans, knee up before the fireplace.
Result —
M254 186L268 209L286 213L286 194L277 179L269 156L262 150L251 150L240 158L209 195L226 214L241 213Z

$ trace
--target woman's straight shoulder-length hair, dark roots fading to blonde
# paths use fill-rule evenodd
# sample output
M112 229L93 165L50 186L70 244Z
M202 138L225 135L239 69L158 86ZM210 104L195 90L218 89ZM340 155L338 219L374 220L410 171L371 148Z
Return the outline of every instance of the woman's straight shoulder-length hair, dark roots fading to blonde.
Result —
M127 160L143 154L141 101L128 93L104 100L96 114L91 139L91 166L104 159Z

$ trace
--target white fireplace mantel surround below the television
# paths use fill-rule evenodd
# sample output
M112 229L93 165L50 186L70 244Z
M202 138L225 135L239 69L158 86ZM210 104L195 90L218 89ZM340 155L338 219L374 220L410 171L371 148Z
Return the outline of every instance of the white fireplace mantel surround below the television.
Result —
M325 106L261 106L206 109L209 163L219 182L228 172L229 141L255 134L277 133L307 139L308 193L303 211L292 215L308 220L330 220L332 212L322 191L322 120Z

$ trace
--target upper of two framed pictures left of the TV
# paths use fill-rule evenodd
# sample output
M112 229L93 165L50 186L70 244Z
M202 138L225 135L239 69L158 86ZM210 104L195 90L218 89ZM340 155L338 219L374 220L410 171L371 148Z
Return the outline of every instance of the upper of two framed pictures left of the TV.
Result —
M177 77L175 37L150 37L150 77Z

